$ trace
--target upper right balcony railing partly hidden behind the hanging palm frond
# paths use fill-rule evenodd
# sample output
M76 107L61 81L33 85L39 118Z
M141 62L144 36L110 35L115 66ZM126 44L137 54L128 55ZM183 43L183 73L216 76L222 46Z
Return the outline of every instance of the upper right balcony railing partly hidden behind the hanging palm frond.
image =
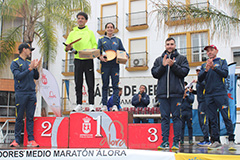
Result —
M210 3L209 2L201 2L201 3L194 3L190 4L191 7L201 8L201 9L209 9ZM174 10L169 12L169 16L167 21L178 21L178 20L186 20L187 15L182 11L183 6L173 6ZM179 11L179 12L178 12ZM194 15L192 15L195 17ZM196 15L197 18L201 18L201 15Z

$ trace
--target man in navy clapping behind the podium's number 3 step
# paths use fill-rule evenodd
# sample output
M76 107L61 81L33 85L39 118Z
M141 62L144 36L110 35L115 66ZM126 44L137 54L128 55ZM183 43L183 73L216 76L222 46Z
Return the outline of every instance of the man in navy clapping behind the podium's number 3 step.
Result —
M135 108L144 108L147 107L150 103L150 99L149 96L147 95L147 93L145 92L146 87L144 85L141 85L139 87L139 92L138 94L135 94L132 98L132 105ZM135 123L147 123L147 119L146 118L134 118L134 122Z

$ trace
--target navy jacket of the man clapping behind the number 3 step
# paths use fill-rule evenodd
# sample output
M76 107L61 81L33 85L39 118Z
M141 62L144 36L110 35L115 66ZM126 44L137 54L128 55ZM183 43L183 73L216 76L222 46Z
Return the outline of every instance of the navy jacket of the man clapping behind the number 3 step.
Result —
M141 94L142 98L139 101L139 97L138 97L139 94L140 94L140 92L138 92L138 94L135 94L133 96L132 105L135 106L135 107L147 107L148 104L150 103L149 96L145 92L143 92Z

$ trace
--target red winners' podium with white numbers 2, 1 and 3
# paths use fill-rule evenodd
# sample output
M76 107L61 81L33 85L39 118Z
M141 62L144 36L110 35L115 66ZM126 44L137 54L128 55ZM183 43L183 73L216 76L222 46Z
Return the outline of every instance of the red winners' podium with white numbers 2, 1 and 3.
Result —
M74 112L70 117L34 118L34 138L41 147L157 149L162 143L161 134L160 123L133 123L133 114L127 111ZM170 125L170 145L172 139Z

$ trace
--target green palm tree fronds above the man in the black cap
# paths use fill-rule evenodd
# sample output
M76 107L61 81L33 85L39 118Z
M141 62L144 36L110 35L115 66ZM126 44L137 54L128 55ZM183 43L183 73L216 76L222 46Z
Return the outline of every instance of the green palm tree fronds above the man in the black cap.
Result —
M57 53L56 24L70 29L76 24L75 18L74 20L72 18L78 11L90 14L89 0L4 0L0 2L0 16L3 20L13 21L16 17L21 17L24 21L23 41L32 43L37 37L41 54L52 61L55 60ZM6 48L9 47L9 53L15 47L13 42L16 42L11 38L13 37L10 37L8 44L5 45ZM5 55L1 54L3 57L1 60L7 57Z

